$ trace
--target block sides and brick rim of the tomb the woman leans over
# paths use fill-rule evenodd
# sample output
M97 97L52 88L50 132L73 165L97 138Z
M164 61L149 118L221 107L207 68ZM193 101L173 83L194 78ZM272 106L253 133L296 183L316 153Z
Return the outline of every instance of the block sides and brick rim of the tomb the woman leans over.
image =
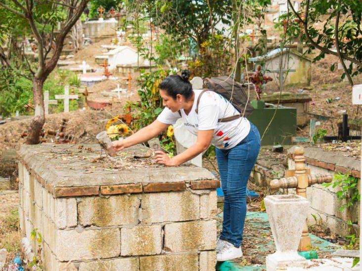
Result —
M20 229L46 271L215 270L218 180L54 188L19 160Z

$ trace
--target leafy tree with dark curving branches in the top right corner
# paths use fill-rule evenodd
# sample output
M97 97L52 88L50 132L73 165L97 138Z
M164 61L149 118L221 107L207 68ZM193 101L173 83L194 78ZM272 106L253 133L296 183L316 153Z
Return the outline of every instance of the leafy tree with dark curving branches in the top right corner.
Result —
M314 61L324 58L325 54L338 56L344 69L342 78L347 77L353 85L352 77L362 72L361 1L303 0L301 10L296 11L288 0L288 8L290 12L280 17L280 21L286 22L287 37L305 41L308 53L317 50L319 54ZM316 22L323 22L322 28L317 27ZM346 61L351 62L349 67ZM333 64L331 70L334 68Z

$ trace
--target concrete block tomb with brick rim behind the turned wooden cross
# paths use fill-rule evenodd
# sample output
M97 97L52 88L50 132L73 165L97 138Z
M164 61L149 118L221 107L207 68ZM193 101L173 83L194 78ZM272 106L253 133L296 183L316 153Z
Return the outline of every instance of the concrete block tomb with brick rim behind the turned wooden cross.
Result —
M294 169L293 148L288 151L289 169ZM311 174L335 173L348 174L359 179L358 187L361 182L361 161L353 157L346 157L333 152L323 151L317 148L305 148L306 165L311 169ZM331 232L341 236L349 235L347 221L350 217L347 210L340 210L340 207L346 202L339 200L337 191L339 187L324 187L315 184L307 188L307 198L310 201L310 212L308 214L308 224L322 224L329 228ZM289 189L288 193L295 193L295 189ZM361 193L361 192L360 192ZM360 204L355 204L352 208L352 222L359 228ZM313 217L316 216L316 219Z

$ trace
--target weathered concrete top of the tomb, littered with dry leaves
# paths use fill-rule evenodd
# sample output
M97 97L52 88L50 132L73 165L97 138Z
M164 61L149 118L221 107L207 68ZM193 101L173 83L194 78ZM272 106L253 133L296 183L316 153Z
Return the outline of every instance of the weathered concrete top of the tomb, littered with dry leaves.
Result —
M35 178L55 197L96 195L101 186L139 183L145 186L148 183L215 179L204 168L190 165L165 167L158 165L152 157L135 159L135 155L150 153L141 145L119 152L115 161L100 160L98 144L83 146L82 150L75 147L60 154L64 149L60 145L26 145L20 148L18 156L28 170L36 172Z

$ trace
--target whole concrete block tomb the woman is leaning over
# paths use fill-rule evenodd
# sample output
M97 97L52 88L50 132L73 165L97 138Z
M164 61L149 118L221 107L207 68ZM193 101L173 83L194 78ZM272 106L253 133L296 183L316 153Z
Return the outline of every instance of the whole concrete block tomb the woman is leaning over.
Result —
M143 146L114 159L81 146L18 152L20 228L46 271L215 268L220 182L209 171L157 165Z

